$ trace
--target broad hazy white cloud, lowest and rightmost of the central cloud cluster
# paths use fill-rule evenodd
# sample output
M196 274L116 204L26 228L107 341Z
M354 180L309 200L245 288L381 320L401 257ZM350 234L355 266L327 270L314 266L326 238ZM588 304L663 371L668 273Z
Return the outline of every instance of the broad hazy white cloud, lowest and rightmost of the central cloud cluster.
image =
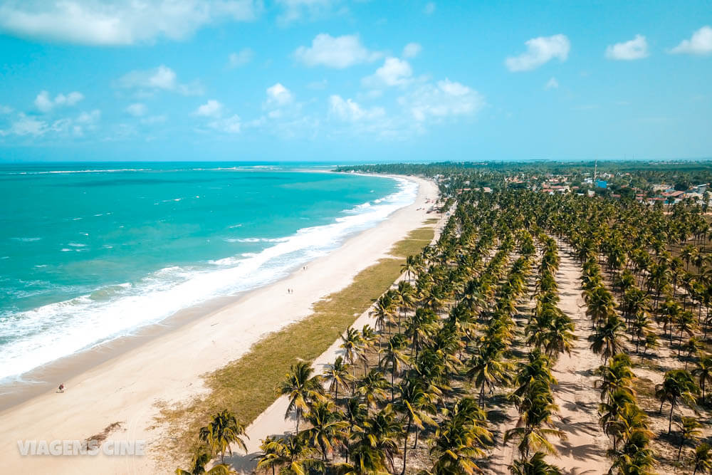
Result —
M446 118L454 115L472 115L485 105L483 96L476 90L449 79L437 85L426 84L399 103L420 122L428 118Z

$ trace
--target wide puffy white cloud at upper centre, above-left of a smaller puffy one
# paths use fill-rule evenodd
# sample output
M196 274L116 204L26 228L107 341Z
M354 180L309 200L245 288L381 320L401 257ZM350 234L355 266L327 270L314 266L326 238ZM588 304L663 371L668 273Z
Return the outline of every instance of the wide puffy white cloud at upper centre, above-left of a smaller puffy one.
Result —
M355 64L376 61L382 55L365 48L357 35L333 37L327 33L320 33L312 40L310 47L297 48L294 56L306 66L343 69Z

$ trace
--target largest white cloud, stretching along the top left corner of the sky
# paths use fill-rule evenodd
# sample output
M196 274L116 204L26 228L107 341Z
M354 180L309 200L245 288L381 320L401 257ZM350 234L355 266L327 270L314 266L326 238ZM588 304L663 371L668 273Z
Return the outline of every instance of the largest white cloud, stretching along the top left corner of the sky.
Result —
M251 21L260 0L10 0L0 6L0 31L88 45L129 45L158 37L186 38L219 21Z

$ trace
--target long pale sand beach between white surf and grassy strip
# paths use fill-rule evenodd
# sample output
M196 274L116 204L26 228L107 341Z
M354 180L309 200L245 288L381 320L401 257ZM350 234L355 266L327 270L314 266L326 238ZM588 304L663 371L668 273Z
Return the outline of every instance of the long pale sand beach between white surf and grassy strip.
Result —
M49 390L0 412L2 466L28 473L160 473L152 444L162 434L150 429L158 414L156 403L184 401L204 392L201 375L244 355L264 335L309 315L313 303L347 286L359 271L386 255L394 242L433 217L426 213L431 207L426 199L437 196L435 185L411 179L419 183L414 204L305 270L64 380L67 389L62 394ZM287 288L294 292L288 294ZM145 441L145 455L21 456L19 451L19 440L81 441L117 422L120 428L112 430L108 440Z

